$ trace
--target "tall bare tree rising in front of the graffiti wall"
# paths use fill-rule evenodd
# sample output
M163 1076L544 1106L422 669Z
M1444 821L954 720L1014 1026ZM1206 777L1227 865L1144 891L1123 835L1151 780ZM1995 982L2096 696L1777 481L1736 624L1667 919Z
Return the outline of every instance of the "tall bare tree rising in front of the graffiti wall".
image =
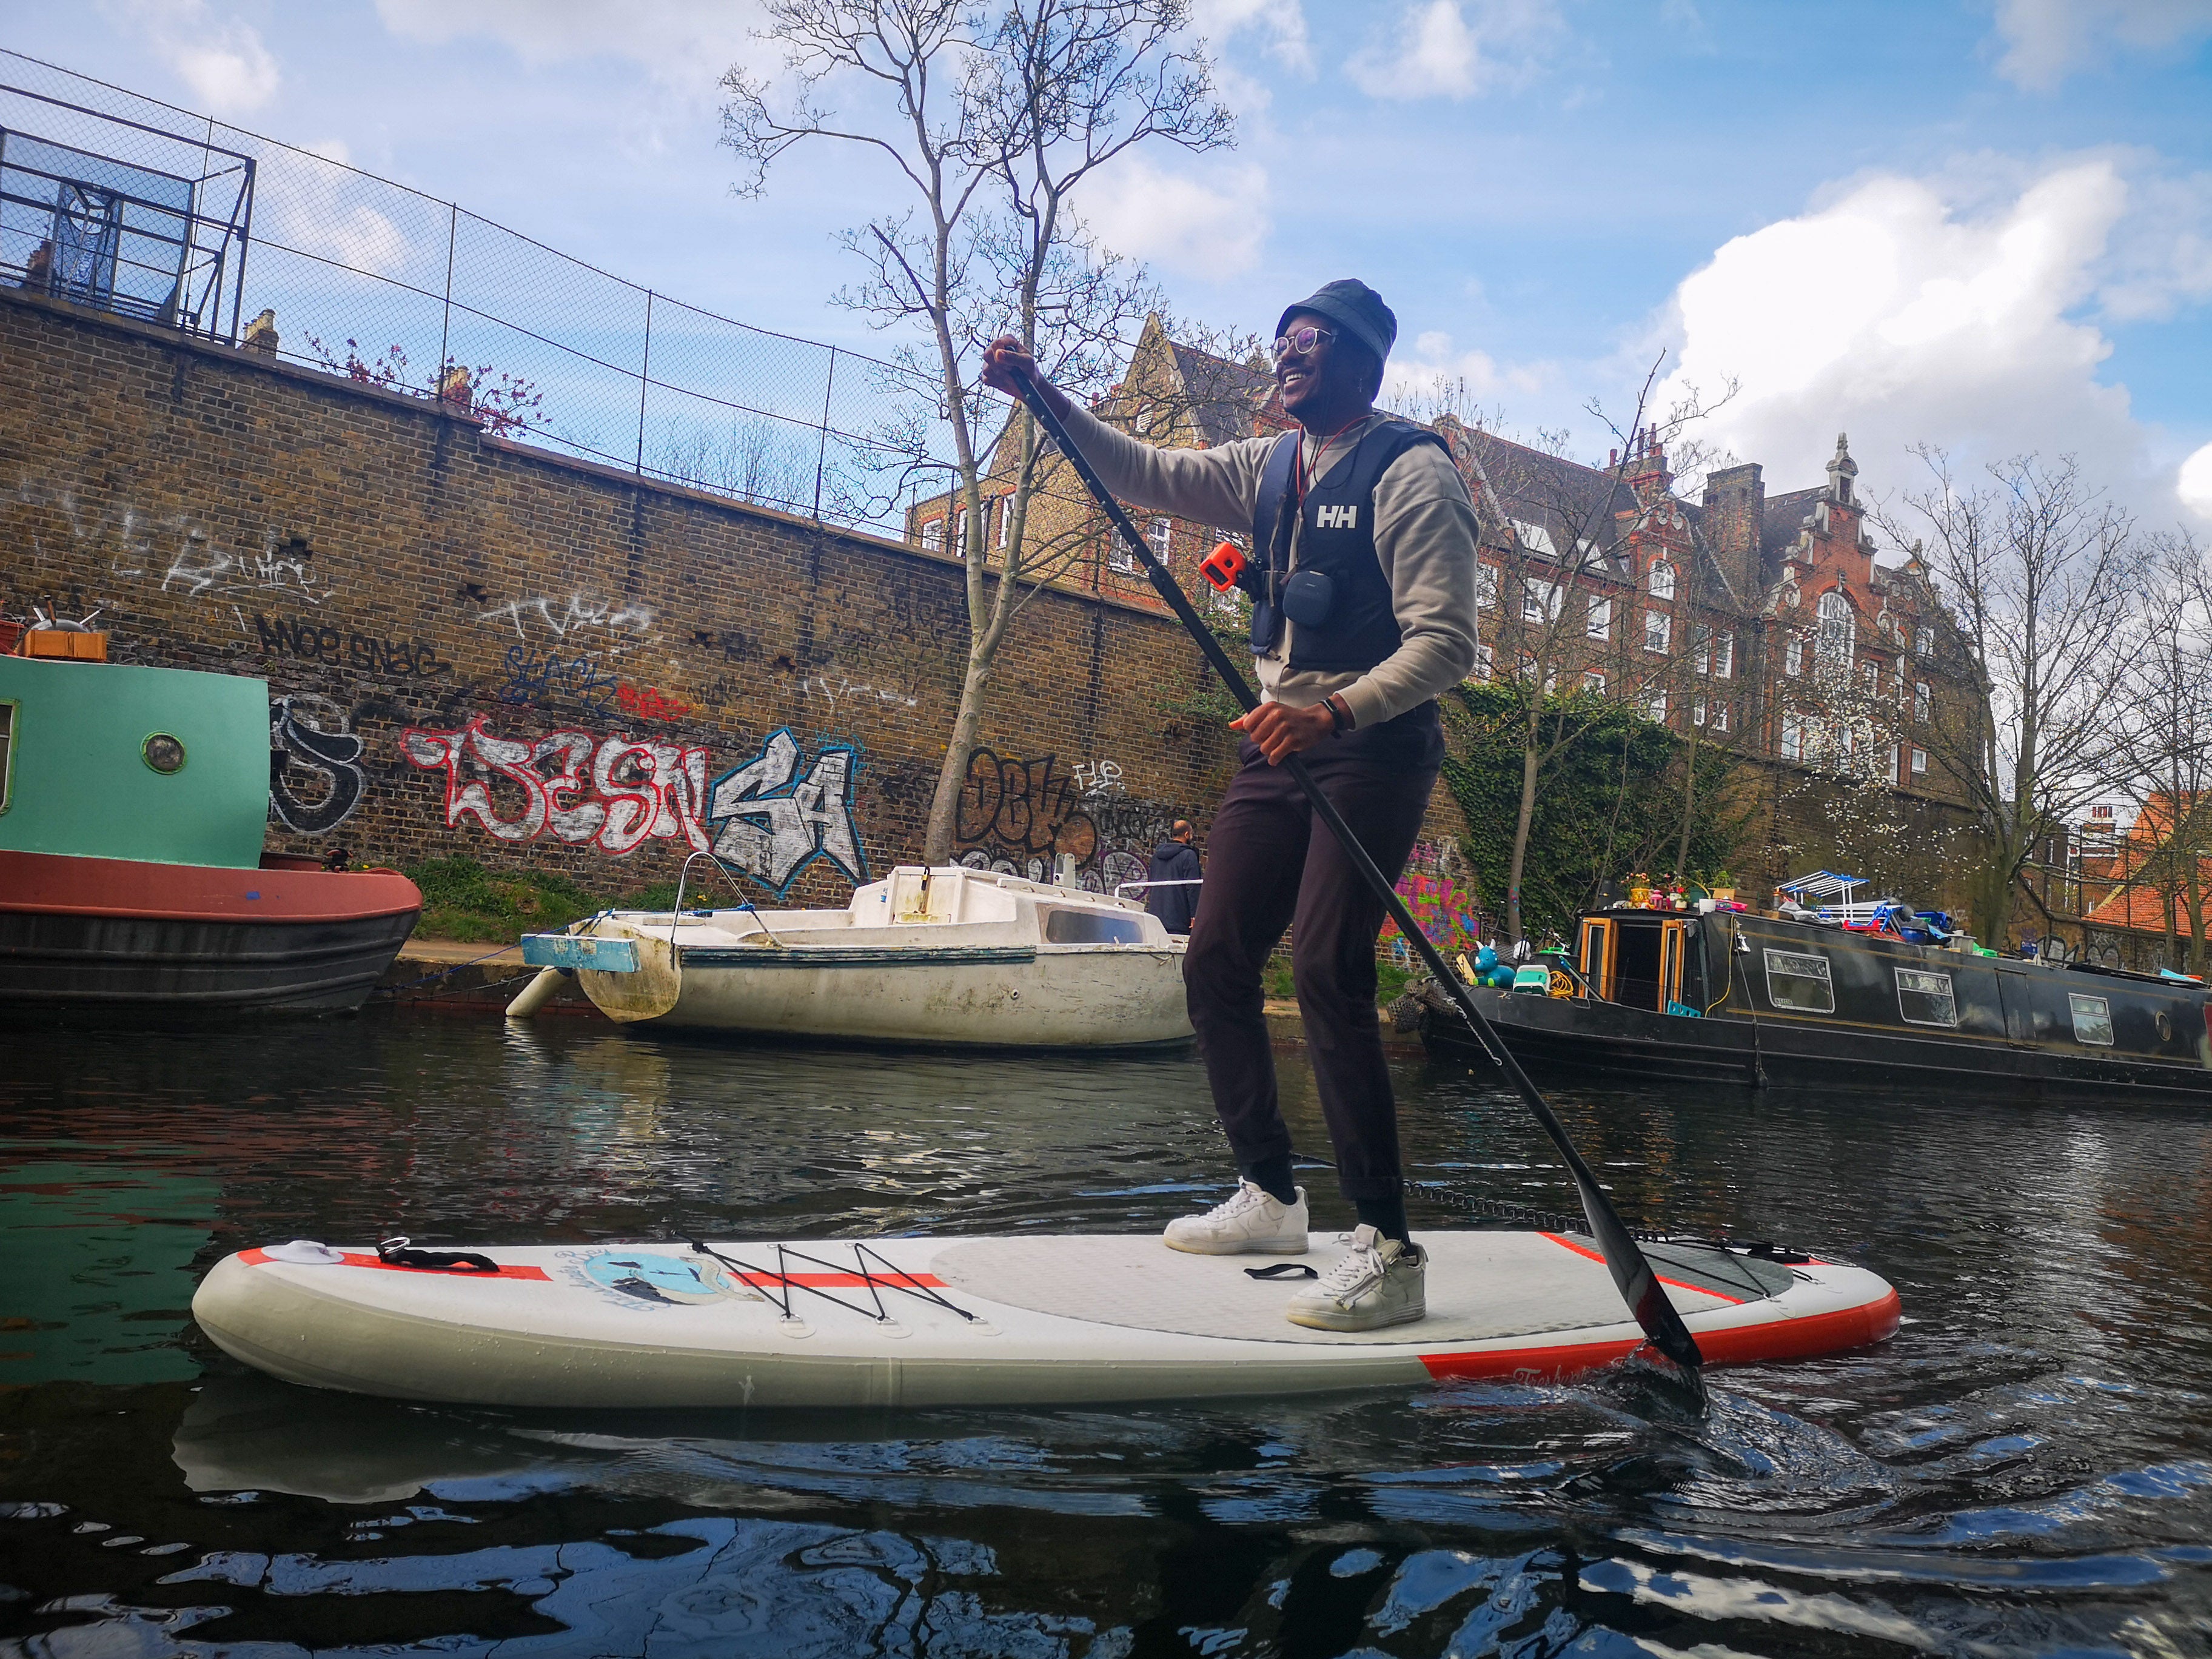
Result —
M774 102L743 69L723 77L723 142L752 166L739 190L761 190L790 148L832 139L887 161L909 197L845 243L867 261L849 303L927 341L920 358L938 387L929 418L951 427L967 509L969 653L925 836L925 858L945 863L998 650L1024 580L1037 582L1024 553L1037 434L1026 416L1006 429L1022 462L1000 509L1011 511L1006 535L987 538L980 427L1002 405L967 365L1009 332L1071 392L1104 385L1117 341L1152 303L1144 272L1088 237L1073 192L1150 139L1228 144L1232 117L1188 35L1188 0L770 0L768 18L794 86ZM832 80L865 93L847 119L816 104ZM914 436L916 456L933 449Z

